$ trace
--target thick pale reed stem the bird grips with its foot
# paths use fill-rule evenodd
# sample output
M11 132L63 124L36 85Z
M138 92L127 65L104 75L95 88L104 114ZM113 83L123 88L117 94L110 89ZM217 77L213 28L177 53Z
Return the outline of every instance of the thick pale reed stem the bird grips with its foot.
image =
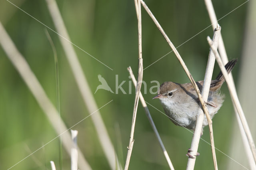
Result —
M214 30L212 39L213 39L215 47L218 47L218 40L220 38L220 30L221 30L221 27L219 25ZM203 97L204 101L208 100L208 94L210 91L210 84L212 81L212 73L213 73L213 69L214 69L214 63L215 63L215 56L214 56L213 51L210 49L208 62L207 62L207 66L206 66L206 71L205 71L205 76L204 76L204 85L202 87L202 97ZM190 149L192 150L190 152L191 155L194 155L197 153L200 136L201 136L201 132L202 132L203 121L204 121L204 113L201 109L199 109L197 119L196 119L195 130L194 130L194 134L193 134L193 138L192 138L192 142L191 142L191 147L190 147ZM212 123L208 119L207 119L207 121L209 124L209 132L210 132L210 141L211 141L214 169L218 170L215 147L214 147ZM195 162L196 162L196 157L188 158L187 170L193 170L194 166L195 166Z

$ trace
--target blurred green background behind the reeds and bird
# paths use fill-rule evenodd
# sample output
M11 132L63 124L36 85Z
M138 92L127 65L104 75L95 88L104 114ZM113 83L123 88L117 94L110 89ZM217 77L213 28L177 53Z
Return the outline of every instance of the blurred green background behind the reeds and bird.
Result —
M44 0L12 0L11 2L46 26L56 30ZM213 5L217 18L226 15L243 2L240 0L214 0ZM238 63L232 71L235 82L240 69L249 3L219 21L229 59L238 58ZM75 47L92 93L100 84L98 74L106 79L113 91L116 83L115 77L118 75L119 83L126 81L122 87L128 93L130 79L126 68L131 66L134 75L137 75L138 69L137 18L134 1L57 0L57 4L71 41L113 69L113 71L108 69ZM147 0L146 4L176 47L210 26L204 1ZM56 105L54 57L45 34L46 27L6 0L0 1L0 21L18 50L28 61L48 97ZM48 32L56 47L59 61L61 117L66 126L71 127L90 113L84 105L58 35L51 30ZM208 27L178 47L180 55L196 81L204 78L209 53L206 37L212 37L212 35L212 27ZM144 68L169 51L171 51L170 47L142 8ZM2 129L0 131L0 169L8 169L52 140L57 134L2 47L0 56L0 128ZM216 64L213 77L219 71ZM146 68L143 80L148 84L147 92L152 85L150 81L153 80L160 83L164 81L187 83L189 81L174 53L166 55ZM135 88L132 87L132 94L123 94L120 90L118 94L113 94L100 89L94 95L98 107L114 100L100 112L122 166L124 166L126 147L130 138L134 90ZM144 90L143 87L142 90ZM226 94L226 100L213 119L214 140L216 148L229 154L229 146L232 142L231 127L235 116L226 84L223 85L221 91ZM144 95L148 103L163 112L160 102L152 100L152 97L154 95L150 93ZM185 128L175 126L165 115L153 107L148 106L148 108L174 168L185 169L188 159L185 154L190 147L192 133ZM73 129L78 130L78 145L90 166L93 169L110 169L90 117ZM240 132L237 131L237 133ZM253 136L255 135L253 134ZM210 142L208 127L204 128L202 138ZM140 103L134 139L130 160L131 170L168 169L160 145ZM64 148L62 152L62 169L68 170L70 169L70 158ZM201 140L198 152L201 155L196 160L195 169L213 169L210 145ZM216 151L216 156L219 169L227 169L229 163L235 164L238 169L243 168L219 151ZM50 160L53 160L56 168L60 169L58 140L50 142L12 169L50 169ZM239 162L239 160L237 161Z

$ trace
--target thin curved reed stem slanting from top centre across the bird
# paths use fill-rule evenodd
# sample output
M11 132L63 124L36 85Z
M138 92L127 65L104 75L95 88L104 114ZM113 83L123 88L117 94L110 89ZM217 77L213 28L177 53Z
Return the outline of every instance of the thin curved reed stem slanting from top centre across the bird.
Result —
M200 93L200 90L198 88L198 86L196 85L196 82L194 81L192 75L190 74L188 68L186 67L184 61L182 60L182 57L180 56L180 54L178 53L177 49L174 47L174 45L172 44L172 42L170 41L170 39L168 38L168 36L166 35L166 33L164 32L164 30L162 29L162 27L160 26L160 24L158 23L158 21L156 20L156 18L154 17L154 15L152 14L152 12L149 10L148 6L146 6L145 2L143 0L141 0L141 4L142 6L145 8L146 12L148 12L148 15L152 18L152 20L154 21L154 23L156 24L157 28L160 30L160 32L162 33L162 35L164 36L165 40L167 41L167 43L170 45L170 47L172 48L172 50L174 51L176 57L178 58L178 60L180 61L180 64L182 65L184 71L186 72L188 78L190 79L196 94L198 95L198 99L201 103L202 109L204 111L204 114L206 115L208 124L211 125L212 124L212 119L210 118L206 103L204 102L204 100L202 99L202 95ZM209 75L208 75L209 76ZM210 127L210 126L209 126ZM210 130L210 129L209 129ZM211 143L214 143L213 141L213 132L210 131L210 136L211 136ZM198 139L199 140L199 139ZM213 146L212 146L213 147ZM212 148L212 151L215 150L214 148ZM213 155L215 155L215 151L213 152ZM216 157L216 156L214 156ZM214 161L216 160L213 157ZM216 163L215 163L216 165Z

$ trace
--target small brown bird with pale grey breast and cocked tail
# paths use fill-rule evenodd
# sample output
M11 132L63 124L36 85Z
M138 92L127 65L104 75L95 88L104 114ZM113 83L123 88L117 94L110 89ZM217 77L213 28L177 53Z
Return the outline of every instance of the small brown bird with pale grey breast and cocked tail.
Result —
M237 59L233 59L225 65L228 73L233 69L236 61ZM211 81L206 103L211 119L218 112L224 101L224 95L220 93L220 87L224 81L222 72L218 74L215 80ZM196 82L200 92L202 91L203 83L204 81ZM153 99L160 99L166 115L175 125L194 130L200 102L192 83L164 82L158 89L158 95ZM207 125L208 122L204 115L203 127Z

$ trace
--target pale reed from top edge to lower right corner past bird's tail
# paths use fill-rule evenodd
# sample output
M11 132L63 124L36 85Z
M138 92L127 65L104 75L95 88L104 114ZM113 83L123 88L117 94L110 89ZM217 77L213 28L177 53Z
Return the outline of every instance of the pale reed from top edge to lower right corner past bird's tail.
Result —
M209 14L211 23L212 23L212 28L214 29L214 25L218 24L218 20L217 20L216 14L214 12L212 1L211 0L204 0L204 2L205 2L205 5L206 5L206 9L208 11L208 14ZM220 52L220 57L221 57L223 63L224 64L228 63L228 56L227 56L227 53L226 53L226 49L225 49L224 42L223 42L221 34L220 34L218 51ZM235 89L235 83L234 83L232 74L230 73L230 74L228 74L228 76L230 78L230 84ZM234 101L232 101L232 104L233 104L233 107L236 108L235 105L234 105ZM240 117L238 116L238 111L236 109L234 109L234 111L236 113L236 119L238 121L238 126L240 128L241 137L243 138L243 141L244 141L243 142L244 143L244 147L247 150L246 154L247 154L248 161L250 162L250 165L253 165L253 166L251 166L251 168L255 168L255 161L254 161L252 152L251 152L250 149L248 150L248 148L250 148L250 144L249 144L248 138L246 137L246 134L245 134L245 131L243 129L241 120L239 120Z

